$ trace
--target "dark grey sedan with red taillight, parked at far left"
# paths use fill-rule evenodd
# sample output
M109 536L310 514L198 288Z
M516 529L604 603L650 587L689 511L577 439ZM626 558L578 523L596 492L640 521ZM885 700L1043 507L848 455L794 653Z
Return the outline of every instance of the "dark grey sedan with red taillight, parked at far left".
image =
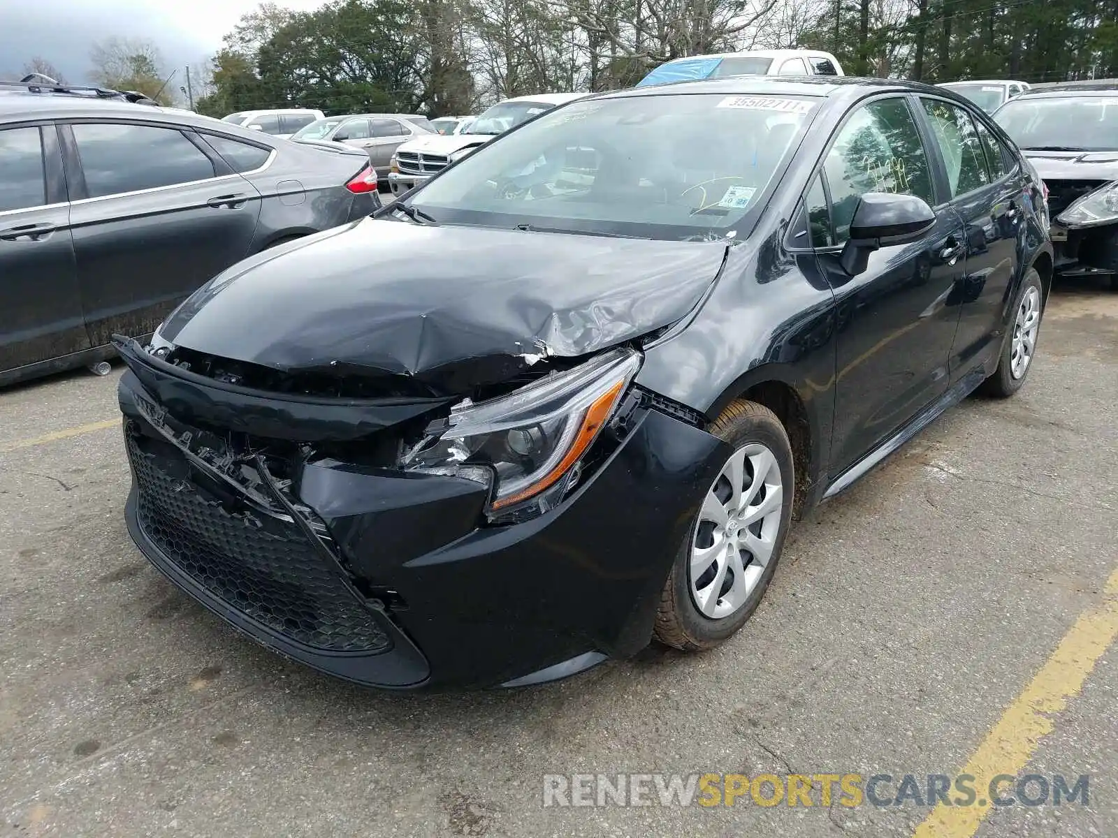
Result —
M114 353L234 263L362 218L361 151L139 94L0 83L0 385Z

